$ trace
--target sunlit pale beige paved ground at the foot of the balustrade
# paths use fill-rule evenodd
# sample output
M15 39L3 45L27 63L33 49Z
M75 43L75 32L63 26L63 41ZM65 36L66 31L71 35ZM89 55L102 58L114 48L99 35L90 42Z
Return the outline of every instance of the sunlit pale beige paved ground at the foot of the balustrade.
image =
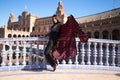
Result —
M120 72L57 69L0 72L0 80L120 80Z

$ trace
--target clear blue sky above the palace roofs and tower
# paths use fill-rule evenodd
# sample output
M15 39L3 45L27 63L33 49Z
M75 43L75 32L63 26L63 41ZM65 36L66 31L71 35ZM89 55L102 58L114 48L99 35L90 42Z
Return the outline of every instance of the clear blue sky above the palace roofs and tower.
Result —
M0 26L6 25L10 12L15 20L25 10L40 17L51 16L56 12L60 0L0 0ZM120 8L120 0L62 0L67 15L75 18L92 15L113 8Z

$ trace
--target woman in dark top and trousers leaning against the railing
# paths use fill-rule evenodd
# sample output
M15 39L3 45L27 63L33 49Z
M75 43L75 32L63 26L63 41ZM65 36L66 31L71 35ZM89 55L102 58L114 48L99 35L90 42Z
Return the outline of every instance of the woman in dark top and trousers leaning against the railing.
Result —
M53 26L51 27L50 33L48 34L49 42L47 44L47 47L45 48L44 54L48 63L53 67L53 71L55 71L57 66L57 61L54 59L53 55L51 54L51 50L57 44L61 23L57 19L56 15L52 16L52 20L53 20Z

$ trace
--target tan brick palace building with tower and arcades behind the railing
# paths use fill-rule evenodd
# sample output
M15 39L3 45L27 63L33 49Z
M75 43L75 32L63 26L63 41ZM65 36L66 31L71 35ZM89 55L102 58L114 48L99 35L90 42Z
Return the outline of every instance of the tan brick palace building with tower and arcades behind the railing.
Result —
M62 1L58 3L56 15L63 23L67 21ZM76 21L90 38L120 40L120 8L79 17ZM40 37L46 35L52 25L51 16L38 18L23 11L15 21L11 13L7 26L0 28L0 37Z

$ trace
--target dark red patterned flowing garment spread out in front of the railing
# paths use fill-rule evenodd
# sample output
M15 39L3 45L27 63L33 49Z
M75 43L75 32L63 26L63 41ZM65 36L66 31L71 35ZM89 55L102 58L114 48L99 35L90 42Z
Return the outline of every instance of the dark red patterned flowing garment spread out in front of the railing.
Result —
M76 34L82 43L86 43L88 41L88 36L82 32L79 24L71 15L68 17L67 22L61 26L57 45L52 50L52 55L55 59L63 60L76 56Z

